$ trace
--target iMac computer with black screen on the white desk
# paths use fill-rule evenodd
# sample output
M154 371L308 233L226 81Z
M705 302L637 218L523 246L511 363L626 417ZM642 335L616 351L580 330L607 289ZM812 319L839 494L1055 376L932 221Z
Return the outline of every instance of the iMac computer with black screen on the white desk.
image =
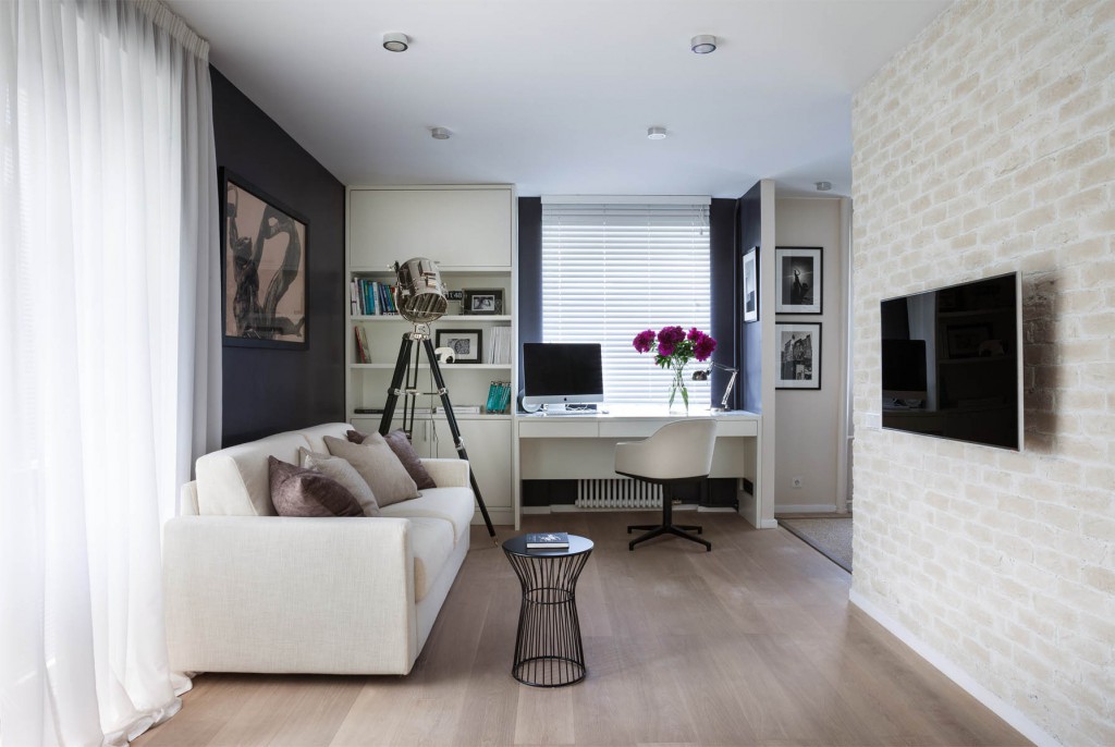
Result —
M523 406L547 411L585 410L604 401L597 342L524 342ZM568 407L573 406L573 407Z

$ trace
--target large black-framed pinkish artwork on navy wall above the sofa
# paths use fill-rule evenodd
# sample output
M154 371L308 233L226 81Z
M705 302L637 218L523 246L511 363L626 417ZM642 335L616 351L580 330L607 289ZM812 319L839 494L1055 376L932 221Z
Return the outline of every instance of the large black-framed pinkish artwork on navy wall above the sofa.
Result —
M309 221L226 168L221 192L224 343L306 350Z

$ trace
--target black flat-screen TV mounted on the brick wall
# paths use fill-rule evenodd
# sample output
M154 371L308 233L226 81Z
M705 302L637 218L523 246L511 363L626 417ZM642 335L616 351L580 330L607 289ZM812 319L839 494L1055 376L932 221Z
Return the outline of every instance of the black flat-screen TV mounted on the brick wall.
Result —
M1022 448L1017 272L880 305L883 427Z

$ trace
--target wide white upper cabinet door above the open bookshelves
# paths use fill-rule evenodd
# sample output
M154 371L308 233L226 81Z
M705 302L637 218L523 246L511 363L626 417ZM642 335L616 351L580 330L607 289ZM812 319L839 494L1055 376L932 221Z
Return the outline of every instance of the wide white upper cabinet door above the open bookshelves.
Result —
M381 269L426 256L443 266L510 266L512 191L352 190L349 264Z

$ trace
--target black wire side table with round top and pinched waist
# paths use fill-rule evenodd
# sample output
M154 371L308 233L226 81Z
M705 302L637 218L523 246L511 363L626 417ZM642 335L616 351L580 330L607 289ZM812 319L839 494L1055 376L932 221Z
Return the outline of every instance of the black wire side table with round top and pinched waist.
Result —
M588 675L581 621L576 617L576 580L592 554L592 541L569 535L569 549L527 550L526 539L512 537L503 552L523 586L511 675L523 685L562 687Z

